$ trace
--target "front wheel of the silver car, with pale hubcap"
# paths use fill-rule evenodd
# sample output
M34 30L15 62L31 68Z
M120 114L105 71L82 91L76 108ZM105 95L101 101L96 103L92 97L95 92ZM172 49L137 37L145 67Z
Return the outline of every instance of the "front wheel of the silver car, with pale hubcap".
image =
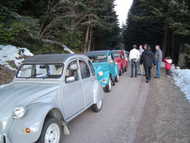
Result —
M37 143L62 143L62 127L55 118L48 118Z

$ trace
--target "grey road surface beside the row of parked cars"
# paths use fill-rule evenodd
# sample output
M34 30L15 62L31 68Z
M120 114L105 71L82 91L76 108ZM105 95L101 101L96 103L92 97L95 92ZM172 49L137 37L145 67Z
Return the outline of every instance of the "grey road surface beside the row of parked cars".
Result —
M86 111L70 124L64 143L189 143L190 104L171 81L122 76L100 113Z

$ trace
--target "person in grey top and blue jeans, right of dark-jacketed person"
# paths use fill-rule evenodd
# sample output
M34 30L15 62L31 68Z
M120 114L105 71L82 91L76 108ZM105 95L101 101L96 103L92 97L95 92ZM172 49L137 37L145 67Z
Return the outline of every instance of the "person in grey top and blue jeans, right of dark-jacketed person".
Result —
M162 63L162 51L159 45L156 45L155 53L155 65L156 65L156 76L155 78L160 78L160 67Z

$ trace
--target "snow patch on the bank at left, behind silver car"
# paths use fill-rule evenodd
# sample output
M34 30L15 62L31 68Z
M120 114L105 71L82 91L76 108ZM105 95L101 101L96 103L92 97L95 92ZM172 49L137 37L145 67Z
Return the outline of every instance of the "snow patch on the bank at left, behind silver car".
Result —
M14 61L15 65L19 66L24 60L24 56L33 56L33 54L26 48L17 48L12 45L0 45L0 65L15 70L15 68L10 66L9 62Z

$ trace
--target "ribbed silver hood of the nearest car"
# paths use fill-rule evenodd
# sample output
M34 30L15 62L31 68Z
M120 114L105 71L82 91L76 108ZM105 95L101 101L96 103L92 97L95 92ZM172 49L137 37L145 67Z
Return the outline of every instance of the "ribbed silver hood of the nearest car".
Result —
M10 113L18 106L27 106L40 97L56 91L56 84L43 83L12 83L0 88L0 117Z

